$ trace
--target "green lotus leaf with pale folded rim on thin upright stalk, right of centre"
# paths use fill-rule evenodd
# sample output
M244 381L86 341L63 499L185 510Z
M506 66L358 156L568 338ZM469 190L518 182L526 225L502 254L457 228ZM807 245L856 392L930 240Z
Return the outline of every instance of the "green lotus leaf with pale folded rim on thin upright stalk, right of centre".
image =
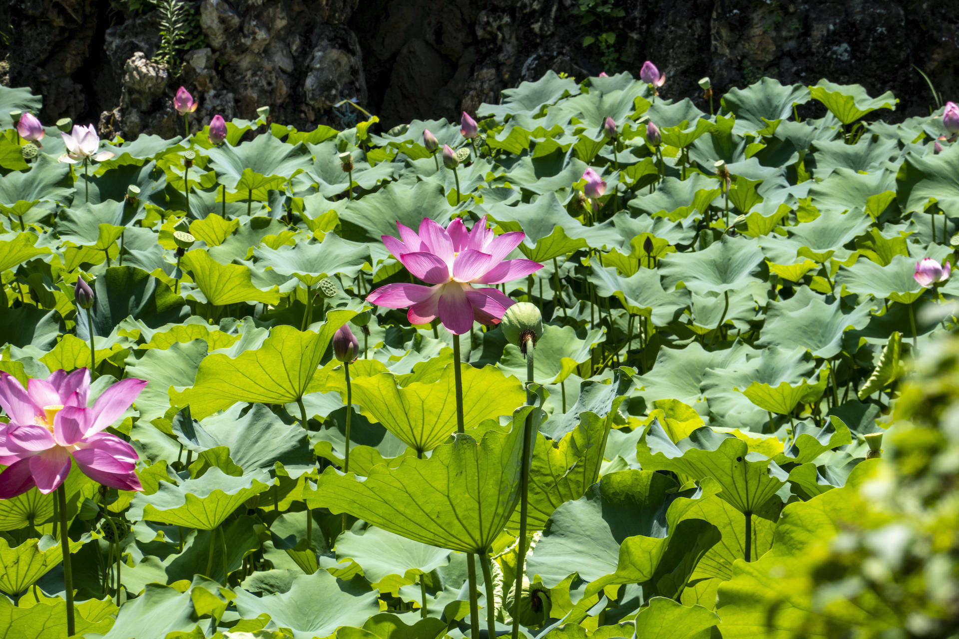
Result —
M713 479L722 488L719 496L740 513L756 513L766 502L782 499L787 473L775 462L729 434L704 426L673 443L658 421L650 423L637 445L636 457L646 470L672 470L701 481Z

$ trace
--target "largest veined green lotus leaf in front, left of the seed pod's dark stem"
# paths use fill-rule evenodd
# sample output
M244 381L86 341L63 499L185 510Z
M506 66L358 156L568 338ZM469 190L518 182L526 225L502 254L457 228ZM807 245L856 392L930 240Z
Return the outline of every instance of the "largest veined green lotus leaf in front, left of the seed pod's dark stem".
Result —
M522 423L531 410L515 411L508 432L487 430L479 442L457 434L427 459L375 466L363 478L327 468L307 503L433 546L485 553L520 498Z

